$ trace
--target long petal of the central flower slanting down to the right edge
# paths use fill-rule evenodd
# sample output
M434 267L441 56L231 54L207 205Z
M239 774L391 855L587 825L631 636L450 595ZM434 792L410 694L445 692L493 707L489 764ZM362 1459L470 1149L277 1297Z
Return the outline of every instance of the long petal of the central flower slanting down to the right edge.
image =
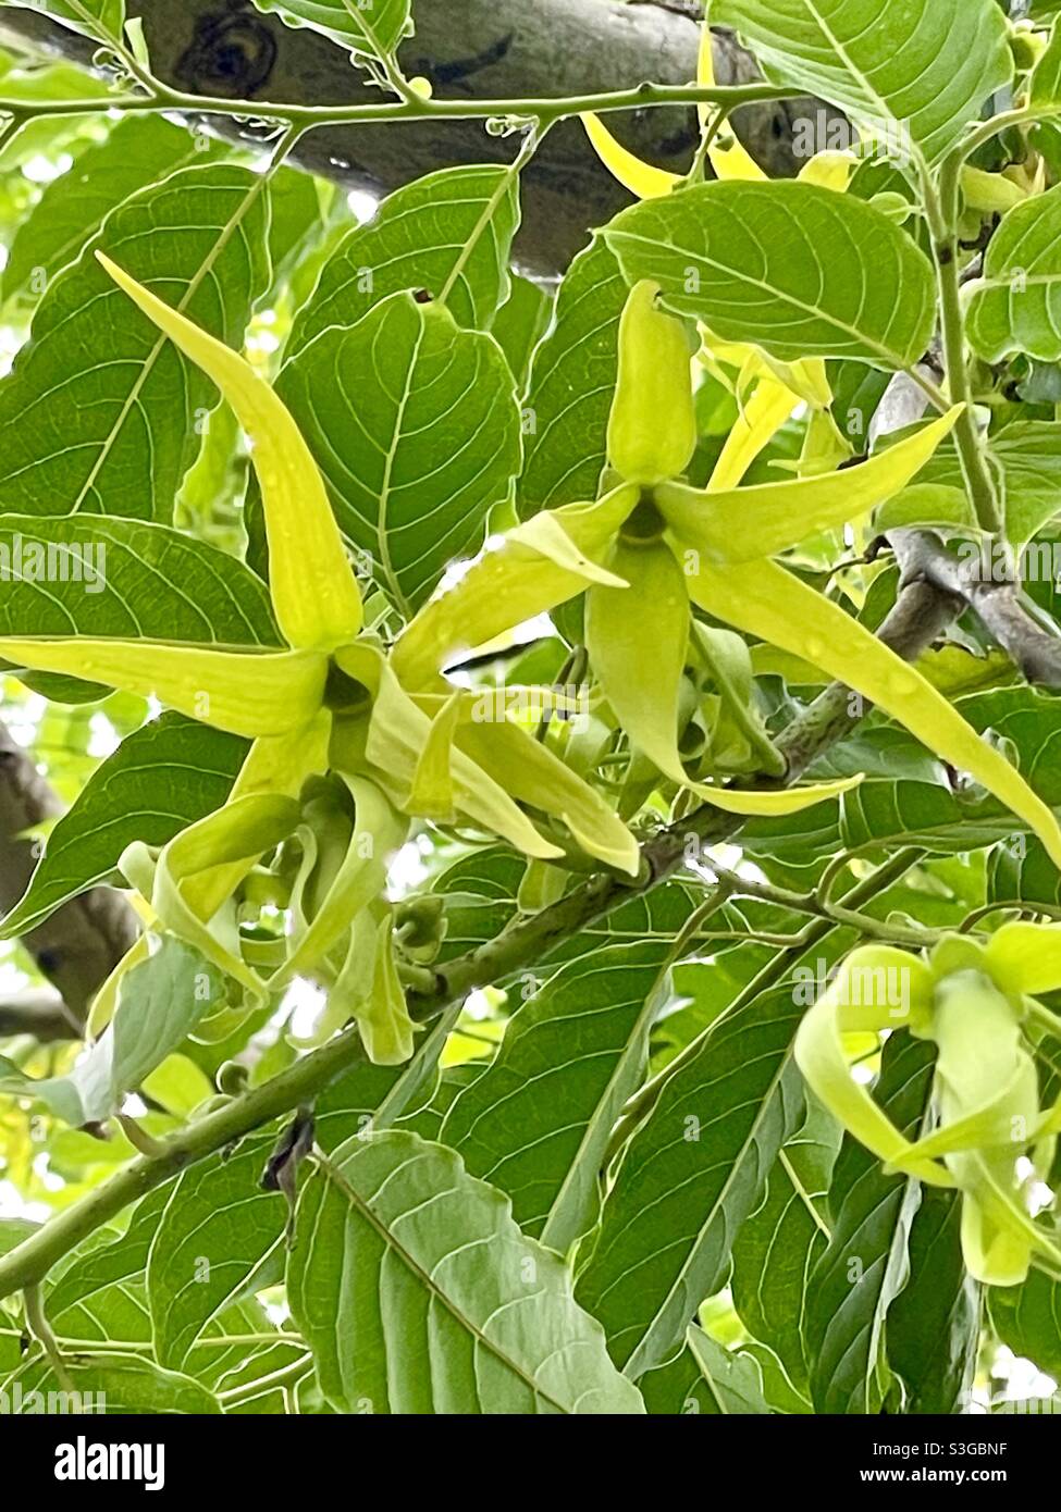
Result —
M1061 866L1061 827L1016 767L982 741L947 700L875 635L776 562L701 564L690 597L736 629L779 646L861 692L958 771L1019 815Z

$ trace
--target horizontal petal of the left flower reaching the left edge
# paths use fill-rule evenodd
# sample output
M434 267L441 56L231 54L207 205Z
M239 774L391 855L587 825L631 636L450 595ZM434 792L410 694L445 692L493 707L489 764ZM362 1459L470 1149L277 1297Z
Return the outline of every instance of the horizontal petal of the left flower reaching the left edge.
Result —
M286 735L321 708L327 662L307 652L230 652L160 641L0 638L0 656L121 692L232 735Z

